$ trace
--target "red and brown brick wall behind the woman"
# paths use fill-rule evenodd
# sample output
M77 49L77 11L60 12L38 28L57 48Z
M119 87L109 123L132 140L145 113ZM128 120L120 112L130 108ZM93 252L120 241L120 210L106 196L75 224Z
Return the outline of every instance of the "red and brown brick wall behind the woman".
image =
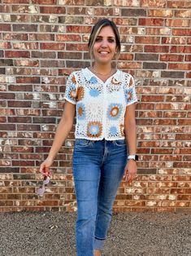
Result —
M190 1L0 0L0 211L76 210L73 131L38 197L38 166L63 111L67 76L89 65L92 25L119 26L119 68L137 81L138 179L115 211L191 209Z

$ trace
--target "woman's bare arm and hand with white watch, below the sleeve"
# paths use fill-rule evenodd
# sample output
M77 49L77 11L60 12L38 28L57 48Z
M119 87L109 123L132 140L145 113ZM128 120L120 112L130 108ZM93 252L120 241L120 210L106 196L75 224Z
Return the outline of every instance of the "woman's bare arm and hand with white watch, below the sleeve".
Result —
M129 155L134 155L137 152L137 129L135 120L136 104L131 104L126 108L124 117L124 132L128 143ZM125 181L130 182L137 174L137 162L130 159L125 166L124 178Z

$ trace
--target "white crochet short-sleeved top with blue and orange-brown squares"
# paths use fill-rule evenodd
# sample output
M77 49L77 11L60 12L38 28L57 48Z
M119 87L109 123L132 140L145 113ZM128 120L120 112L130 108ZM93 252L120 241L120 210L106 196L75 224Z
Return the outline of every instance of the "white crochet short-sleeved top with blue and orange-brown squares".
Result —
M124 139L126 107L137 102L132 75L119 69L102 82L89 68L72 72L65 97L76 104L76 139Z

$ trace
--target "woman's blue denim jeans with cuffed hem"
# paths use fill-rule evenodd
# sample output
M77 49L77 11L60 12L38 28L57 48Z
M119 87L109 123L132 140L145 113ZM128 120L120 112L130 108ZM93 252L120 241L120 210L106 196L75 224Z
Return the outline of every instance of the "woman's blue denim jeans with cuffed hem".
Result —
M93 256L94 249L103 247L127 155L125 139L76 139L73 177L78 208L77 256Z

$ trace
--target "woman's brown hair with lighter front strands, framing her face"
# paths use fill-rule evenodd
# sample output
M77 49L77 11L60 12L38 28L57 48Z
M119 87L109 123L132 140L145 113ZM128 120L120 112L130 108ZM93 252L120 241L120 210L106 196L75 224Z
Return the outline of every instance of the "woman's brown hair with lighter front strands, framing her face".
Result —
M98 33L100 32L100 30L103 27L106 27L106 26L110 26L111 29L113 29L113 32L115 33L116 55L118 55L118 58L119 58L119 53L120 53L120 50L121 50L121 44L120 44L119 31L117 29L117 26L111 20L102 19L102 20L98 20L98 22L96 24L94 24L93 29L90 33L88 46L89 46L89 55L90 55L91 59L93 58L93 55L92 55L93 45L94 45L94 42L95 42L95 40L98 36ZM116 58L116 59L118 59L118 58Z

